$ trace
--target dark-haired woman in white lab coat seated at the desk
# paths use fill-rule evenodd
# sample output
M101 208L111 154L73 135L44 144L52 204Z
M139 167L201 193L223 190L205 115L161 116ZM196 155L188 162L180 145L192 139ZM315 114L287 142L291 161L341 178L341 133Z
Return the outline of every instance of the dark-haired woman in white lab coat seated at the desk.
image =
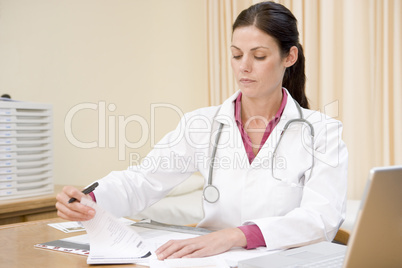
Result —
M221 106L186 114L145 159L173 154L187 161L185 171L140 165L99 180L93 199L116 216L129 216L196 171L206 178L198 226L215 232L170 241L156 251L159 259L210 256L232 247L289 248L335 236L345 215L347 150L341 124L307 109L296 23L273 2L238 16L230 49L240 90ZM71 197L83 194L65 187L57 196L59 216L91 219L95 212L68 204Z

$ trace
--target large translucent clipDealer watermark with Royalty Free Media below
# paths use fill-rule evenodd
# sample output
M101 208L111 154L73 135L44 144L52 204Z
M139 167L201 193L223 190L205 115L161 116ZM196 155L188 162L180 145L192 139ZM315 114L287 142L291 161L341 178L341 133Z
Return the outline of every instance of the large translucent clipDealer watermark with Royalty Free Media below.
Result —
M206 151L211 151L210 148L214 146L215 138L218 132L217 121L223 122L225 124L231 124L236 126L233 116L219 115L218 117L211 118L211 116L206 116L200 113L188 113L185 114L178 106L170 103L154 103L150 105L150 118L147 119L143 115L132 114L132 115L119 115L115 114L116 105L113 103L106 103L105 101L100 101L98 103L80 103L73 106L66 114L64 121L64 131L67 140L74 146L82 149L93 149L93 148L117 148L118 149L118 160L125 161L127 156L129 156L130 166L141 165L149 167L156 170L160 167L176 167L179 170L187 170L190 168L191 163L195 163L198 166L209 167L211 163L211 156L204 154L196 154L193 159L185 159L179 157L176 152L171 152L171 154L166 157L160 157L156 159L148 159L146 157L141 157L138 153L129 153L128 149L139 149L145 145L149 145L153 149L169 149L174 148L176 145L185 139L185 146L191 146L194 149L208 149ZM160 141L156 141L156 121L158 115L158 109L160 111L169 111L177 114L180 119L179 125L173 132L168 135L167 138L163 138ZM163 110L165 109L165 110ZM80 140L74 135L72 129L74 125L74 118L83 113L84 111L93 111L96 114L97 120L97 137L92 141ZM324 107L324 110L330 110L331 116L337 115L338 113L338 102L333 102ZM283 116L282 119L285 119ZM297 139L295 144L302 144L302 147L310 155L314 153L315 161L323 161L331 166L337 166L339 164L339 146L340 146L340 123L338 121L332 120L325 114L320 112L309 112L305 115L305 120L307 120L315 130L314 140L319 137L319 144L314 143L309 137L311 137L311 130L307 123L302 123L301 127L297 127L296 130L300 130L297 136L294 136L293 126L289 127L285 132L285 137L288 139ZM250 120L262 120L264 118L250 118ZM268 121L264 121L268 124ZM246 122L245 127L247 127L250 122ZM135 140L132 141L127 138L127 128L130 125L135 125L139 129L140 135ZM300 125L300 124L295 124ZM324 128L323 128L324 126ZM319 132L317 133L317 129ZM267 140L267 146L274 148L277 146L277 140L281 135L280 128L275 128L271 133L271 137ZM260 129L248 129L248 132L258 132ZM292 134L293 133L293 134ZM288 148L287 144L289 142L283 141L280 147ZM182 145L179 145L182 146ZM217 145L218 150L223 150L225 148L241 148L243 146L243 141L241 136L237 131L237 127L225 127L222 130L221 139ZM252 146L255 147L255 146ZM195 150L196 151L196 150ZM336 155L335 155L336 154ZM254 161L261 161L254 165L259 165L262 168L274 168L284 169L287 166L286 159L283 155L277 155L275 161L272 164L270 160L271 156L264 156L255 158ZM214 165L218 165L219 168L234 168L236 165L240 167L245 167L248 165L248 159L245 156L240 156L238 154L232 155L230 158L217 158Z

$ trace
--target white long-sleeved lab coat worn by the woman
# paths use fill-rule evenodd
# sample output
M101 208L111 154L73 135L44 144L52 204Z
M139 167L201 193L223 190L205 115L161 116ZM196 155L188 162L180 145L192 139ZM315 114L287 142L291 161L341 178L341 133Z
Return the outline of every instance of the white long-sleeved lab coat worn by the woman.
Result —
M288 100L278 125L249 164L234 119L236 92L222 105L185 114L139 166L111 172L99 181L100 206L117 216L135 215L164 197L174 186L199 171L207 185L216 132L224 124L216 151L213 182L216 203L203 201L200 227L218 230L257 224L267 248L289 248L331 241L345 217L348 153L339 121L303 109L314 127L315 160L311 177L311 140L307 124L292 123L272 153L286 122L299 118Z

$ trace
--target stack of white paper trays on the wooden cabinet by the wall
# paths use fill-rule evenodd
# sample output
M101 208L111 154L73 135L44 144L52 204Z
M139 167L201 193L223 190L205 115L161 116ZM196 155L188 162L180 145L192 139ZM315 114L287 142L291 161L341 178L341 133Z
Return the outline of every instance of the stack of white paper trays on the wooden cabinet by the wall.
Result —
M0 200L53 192L52 106L0 101Z

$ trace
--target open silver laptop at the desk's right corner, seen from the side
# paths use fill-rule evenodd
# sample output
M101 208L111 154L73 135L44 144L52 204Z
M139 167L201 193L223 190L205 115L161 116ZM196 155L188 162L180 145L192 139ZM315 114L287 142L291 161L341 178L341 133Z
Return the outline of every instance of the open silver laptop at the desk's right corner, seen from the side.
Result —
M402 166L370 171L348 246L319 242L239 261L238 267L402 267Z

